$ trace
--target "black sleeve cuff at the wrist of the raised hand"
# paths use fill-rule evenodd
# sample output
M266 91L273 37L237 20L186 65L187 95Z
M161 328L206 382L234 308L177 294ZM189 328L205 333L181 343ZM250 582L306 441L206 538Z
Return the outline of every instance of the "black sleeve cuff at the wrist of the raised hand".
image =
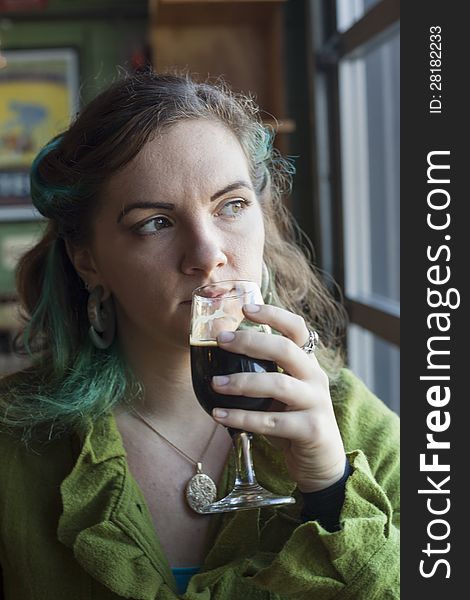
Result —
M301 492L304 505L300 514L302 523L318 521L329 532L339 530L339 515L344 502L344 488L352 469L348 459L339 481L318 492Z

